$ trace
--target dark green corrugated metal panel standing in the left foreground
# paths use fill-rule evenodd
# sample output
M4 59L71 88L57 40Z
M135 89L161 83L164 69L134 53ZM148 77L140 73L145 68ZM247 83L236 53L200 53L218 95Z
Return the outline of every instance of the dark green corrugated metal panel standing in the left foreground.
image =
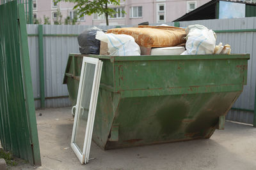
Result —
M14 156L40 165L24 5L0 6L0 139Z

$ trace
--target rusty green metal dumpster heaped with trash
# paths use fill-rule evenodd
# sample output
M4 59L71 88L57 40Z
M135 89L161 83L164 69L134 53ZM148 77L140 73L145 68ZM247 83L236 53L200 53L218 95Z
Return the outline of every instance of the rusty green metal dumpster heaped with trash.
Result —
M63 83L76 105L84 55ZM88 56L88 55L87 55ZM246 85L249 54L102 56L93 141L103 149L210 138Z

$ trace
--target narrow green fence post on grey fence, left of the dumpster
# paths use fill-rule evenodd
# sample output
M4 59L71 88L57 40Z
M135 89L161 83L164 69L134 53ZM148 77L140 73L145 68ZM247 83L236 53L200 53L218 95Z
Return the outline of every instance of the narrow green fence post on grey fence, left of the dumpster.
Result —
M44 91L44 41L43 41L43 25L38 25L38 46L39 46L41 108L44 108L45 107L45 91Z

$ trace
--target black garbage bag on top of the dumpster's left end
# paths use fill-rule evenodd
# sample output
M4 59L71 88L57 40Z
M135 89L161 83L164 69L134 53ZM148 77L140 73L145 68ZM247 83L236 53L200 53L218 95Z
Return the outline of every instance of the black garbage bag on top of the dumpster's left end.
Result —
M103 31L97 27L84 30L77 37L79 51L83 54L97 54L100 53L100 41L95 39L97 31ZM103 31L106 32L106 31Z

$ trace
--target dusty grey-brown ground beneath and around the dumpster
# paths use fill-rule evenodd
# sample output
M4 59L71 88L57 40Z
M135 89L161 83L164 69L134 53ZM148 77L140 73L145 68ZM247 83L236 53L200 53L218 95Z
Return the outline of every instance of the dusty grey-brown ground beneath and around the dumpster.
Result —
M256 169L256 128L234 122L210 139L107 151L92 143L95 159L81 165L70 148L70 110L37 110L42 166L23 163L10 169Z

